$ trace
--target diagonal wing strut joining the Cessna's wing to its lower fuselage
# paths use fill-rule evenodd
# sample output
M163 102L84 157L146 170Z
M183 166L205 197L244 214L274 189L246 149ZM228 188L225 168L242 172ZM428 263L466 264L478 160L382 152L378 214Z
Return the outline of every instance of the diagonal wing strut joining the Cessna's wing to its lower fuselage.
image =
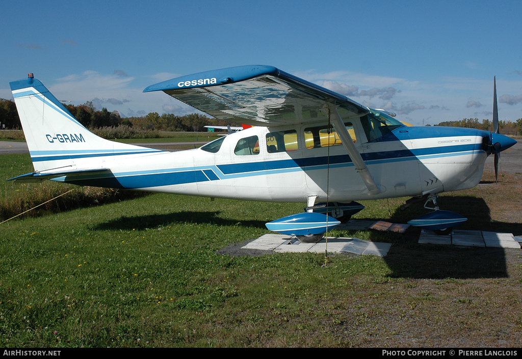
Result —
M353 164L355 165L355 170L359 172L359 175L362 178L362 181L366 185L367 188L367 194L369 195L376 195L379 194L382 191L380 188L377 187L375 184L375 181L373 180L372 174L368 170L368 167L366 166L366 163L364 163L364 160L361 157L361 154L355 148L355 145L353 144L353 139L350 136L350 133L346 129L345 124L342 122L341 116L339 115L339 112L337 112L337 106L330 105L329 106L330 111L330 120L331 123L334 125L334 128L339 134L339 137L342 142L342 146L345 147L346 151L350 155L350 158L352 159Z

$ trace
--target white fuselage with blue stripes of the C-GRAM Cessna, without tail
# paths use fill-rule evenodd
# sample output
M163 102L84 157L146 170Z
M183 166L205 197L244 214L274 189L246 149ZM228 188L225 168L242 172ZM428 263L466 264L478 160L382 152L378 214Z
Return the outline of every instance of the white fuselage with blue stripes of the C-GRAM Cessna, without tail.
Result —
M194 150L100 158L104 178L56 181L260 201L351 201L470 188L482 176L489 132L399 126L371 134L359 117L345 122L382 191L368 195L340 140L310 125L252 127ZM384 131L383 131L384 132ZM369 140L369 138L371 140ZM329 141L329 143L328 143ZM81 159L77 160L81 166ZM89 159L92 163L92 158Z

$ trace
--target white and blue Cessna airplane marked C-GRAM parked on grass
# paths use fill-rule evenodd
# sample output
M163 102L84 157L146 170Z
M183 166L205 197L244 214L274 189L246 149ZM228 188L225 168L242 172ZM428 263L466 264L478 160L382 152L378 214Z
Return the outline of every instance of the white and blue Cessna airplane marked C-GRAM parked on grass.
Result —
M304 213L267 227L304 242L321 240L361 210L357 200L406 196L435 206L411 224L450 231L462 217L438 210L437 195L476 186L488 155L516 143L497 130L405 126L272 66L211 70L147 87L218 119L253 125L179 152L92 134L32 74L10 86L34 165L11 180L303 202ZM494 91L496 105L496 84Z

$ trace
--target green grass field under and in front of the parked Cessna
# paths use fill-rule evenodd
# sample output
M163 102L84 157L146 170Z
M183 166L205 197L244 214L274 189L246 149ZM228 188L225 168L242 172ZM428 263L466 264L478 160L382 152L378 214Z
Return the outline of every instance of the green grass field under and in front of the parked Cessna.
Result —
M6 171L29 172L19 156ZM520 175L492 179L441 207L464 228L521 235ZM404 200L365 201L356 217L425 211L398 210ZM152 194L0 224L0 347L520 346L520 250L419 245L412 228L334 231L392 247L327 266L325 254L220 254L302 207Z

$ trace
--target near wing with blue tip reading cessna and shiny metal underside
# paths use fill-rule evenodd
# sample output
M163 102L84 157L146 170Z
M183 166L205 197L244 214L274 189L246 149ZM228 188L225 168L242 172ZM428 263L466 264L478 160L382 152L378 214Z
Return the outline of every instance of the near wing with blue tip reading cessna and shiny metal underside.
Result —
M362 116L367 107L272 66L239 66L178 77L147 87L163 91L218 119L247 125L289 125L328 121L338 106L342 118Z

